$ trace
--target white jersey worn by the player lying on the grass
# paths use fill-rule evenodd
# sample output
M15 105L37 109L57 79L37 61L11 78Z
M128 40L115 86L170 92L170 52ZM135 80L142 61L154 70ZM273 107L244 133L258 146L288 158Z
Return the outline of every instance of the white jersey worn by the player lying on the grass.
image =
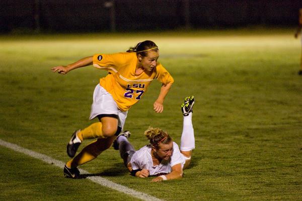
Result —
M179 163L181 163L183 168L186 162L185 157L180 153L178 145L175 142L173 142L173 153L171 158L169 160L162 160L160 165L153 165L151 150L151 145L146 145L133 154L130 160L133 170L147 169L149 170L149 176L157 176L170 173L172 171L171 168Z

